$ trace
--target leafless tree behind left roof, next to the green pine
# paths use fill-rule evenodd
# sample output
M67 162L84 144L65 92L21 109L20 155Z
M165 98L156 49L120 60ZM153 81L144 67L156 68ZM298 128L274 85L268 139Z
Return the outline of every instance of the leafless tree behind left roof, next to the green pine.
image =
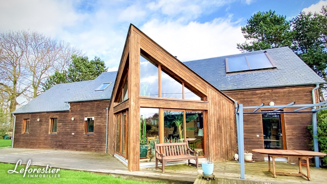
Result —
M41 94L41 87L47 77L56 70L63 71L69 64L72 54L81 54L79 49L67 42L46 37L36 31L29 32L26 53L26 68L31 80L33 98Z

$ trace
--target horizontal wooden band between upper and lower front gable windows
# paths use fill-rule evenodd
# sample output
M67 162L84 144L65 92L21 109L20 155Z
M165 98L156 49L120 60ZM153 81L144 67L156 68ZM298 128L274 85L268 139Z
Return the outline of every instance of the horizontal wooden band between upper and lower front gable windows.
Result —
M140 106L150 108L208 110L209 103L182 99L140 97Z

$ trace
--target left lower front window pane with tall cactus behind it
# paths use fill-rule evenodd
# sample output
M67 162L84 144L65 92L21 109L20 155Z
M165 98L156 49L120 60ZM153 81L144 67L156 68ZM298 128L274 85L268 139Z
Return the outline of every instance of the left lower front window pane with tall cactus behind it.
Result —
M159 109L140 108L140 115L140 159L154 158L154 143L159 143Z

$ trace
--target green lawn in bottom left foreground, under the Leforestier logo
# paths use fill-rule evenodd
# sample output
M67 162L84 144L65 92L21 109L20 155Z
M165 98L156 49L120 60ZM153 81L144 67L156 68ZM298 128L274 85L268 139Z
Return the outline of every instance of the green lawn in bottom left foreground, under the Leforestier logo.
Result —
M26 166L17 166L16 171L20 171L22 168L26 168ZM30 166L28 169L34 168L43 169L43 167ZM73 183L83 183L83 184L151 184L150 182L142 182L142 181L133 181L122 179L119 177L113 177L109 175L97 175L94 173L84 172L84 171L73 171L73 170L60 170L57 173L57 177L54 177L55 174L45 174L45 177L28 177L28 172L26 172L26 176L23 177L24 173L12 173L9 174L8 170L14 170L15 164L9 163L0 163L0 178L1 183L23 183L23 184L44 184L44 183L65 183L65 184L73 184ZM35 172L36 174L36 172ZM34 174L34 175L35 175ZM41 174L41 173L40 173ZM40 174L38 174L40 176ZM31 175L31 174L30 174ZM44 175L44 174L42 174ZM46 175L53 175L53 177L46 177ZM58 177L60 175L60 177ZM163 184L163 183L156 183Z

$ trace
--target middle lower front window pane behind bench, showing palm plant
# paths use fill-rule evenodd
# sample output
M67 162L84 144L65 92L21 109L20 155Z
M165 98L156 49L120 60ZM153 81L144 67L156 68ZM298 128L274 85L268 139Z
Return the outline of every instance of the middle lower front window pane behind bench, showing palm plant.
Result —
M184 111L163 111L164 143L184 142Z

